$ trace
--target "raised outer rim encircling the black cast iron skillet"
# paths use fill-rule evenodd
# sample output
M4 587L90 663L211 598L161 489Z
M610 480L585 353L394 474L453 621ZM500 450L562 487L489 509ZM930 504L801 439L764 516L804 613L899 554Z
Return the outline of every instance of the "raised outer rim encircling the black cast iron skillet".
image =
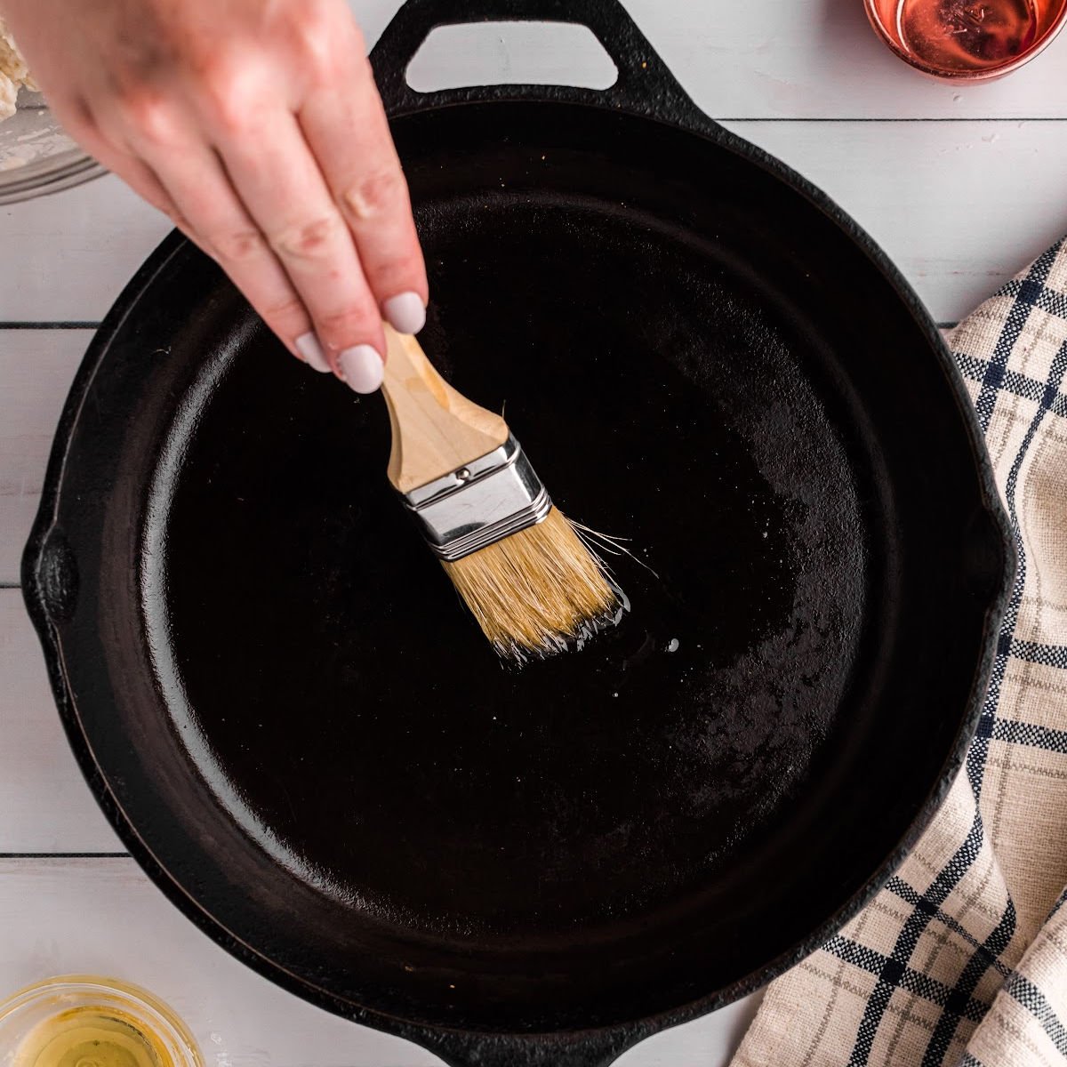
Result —
M431 105L430 107L453 108L495 103L543 107L546 103L552 105L555 102L591 108L593 110L605 110L604 105L590 102L586 98L575 98L573 91L562 86L559 87L558 93L552 93L551 90L556 87L535 86L534 89L538 92L538 96L537 98L531 98L529 95L523 95L523 92L528 92L530 86L494 86L494 93L490 98L487 98L482 94L469 98L451 100L447 105ZM503 90L503 92L497 94L495 90ZM466 94L462 95L465 96ZM426 110L426 108L421 108L418 113L425 113ZM614 113L619 113L620 111L619 108L607 110ZM694 110L696 110L695 106ZM395 121L402 123L404 115L411 113L415 112L401 111L400 114L395 116ZM595 1047L605 1052L609 1050L609 1058L612 1058L624 1049L647 1036L690 1021L757 991L798 964L825 943L829 937L838 933L842 926L858 914L876 893L883 888L892 873L901 865L937 814L964 765L970 742L975 733L982 713L986 686L996 655L999 624L1004 614L1015 575L1016 552L1014 535L996 487L992 466L973 403L967 394L962 379L956 370L941 332L923 306L914 289L904 278L888 255L826 193L822 192L822 190L777 158L718 126L718 124L703 116L702 113L698 112L703 120L701 124L702 128L700 129L692 128L694 124L691 120L687 125L683 126L670 117L663 118L649 114L643 109L625 109L624 113L627 120L651 122L659 126L665 126L674 136L696 137L704 141L711 141L718 147L731 150L749 163L769 172L774 177L791 187L791 189L817 207L827 218L827 221L842 229L845 236L873 262L878 273L888 283L890 289L895 292L904 304L905 309L908 312L923 338L928 343L929 350L950 386L957 413L961 417L962 428L968 435L969 451L973 461L974 474L977 476L977 488L981 493L982 504L985 513L991 520L992 528L998 536L999 547L1002 552L1003 563L1000 584L985 598L988 606L984 614L982 655L978 658L977 668L972 675L971 691L967 705L960 715L959 728L937 781L933 784L907 831L886 860L842 907L833 912L825 923L808 937L779 954L779 956L775 957L758 971L753 971L749 975L714 992L667 1010L642 1016L622 1023L589 1030L550 1031L529 1034L519 1034L513 1031L461 1030L415 1022L398 1015L367 1008L331 993L319 986L315 986L304 978L298 977L287 971L281 964L270 959L229 931L219 920L214 919L208 912L205 906L197 903L181 887L176 877L157 860L152 849L138 833L133 822L125 813L111 792L106 775L93 755L91 740L81 726L76 702L67 685L63 667L62 646L57 627L49 617L49 603L51 602L54 610L57 596L59 595L62 600L64 594L62 588L62 560L58 560L55 553L50 551L49 538L63 490L66 458L82 405L92 393L96 373L107 359L112 343L121 333L126 320L140 307L142 296L149 289L155 278L175 257L192 250L191 242L177 230L173 230L163 239L126 285L108 312L86 350L64 403L49 457L41 505L22 556L21 577L23 598L44 649L49 684L67 739L75 752L78 765L109 823L129 850L131 857L145 871L152 881L186 918L190 919L217 944L251 967L256 973L318 1007L386 1033L407 1038L430 1051L444 1055L446 1058L450 1055L461 1056L472 1042L485 1042L493 1038L511 1038L519 1046L527 1048L542 1042L540 1045L542 1051L551 1047L550 1051L556 1050L559 1054L562 1054L564 1046ZM547 1042L547 1045L544 1042ZM514 1047L512 1049L514 1052ZM609 1058L602 1062L607 1063ZM539 1060L538 1062L540 1063L541 1061Z

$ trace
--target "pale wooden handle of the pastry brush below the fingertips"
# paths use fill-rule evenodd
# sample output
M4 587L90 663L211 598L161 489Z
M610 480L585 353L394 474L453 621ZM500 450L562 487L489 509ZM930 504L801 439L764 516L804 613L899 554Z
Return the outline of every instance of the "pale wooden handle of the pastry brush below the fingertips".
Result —
M393 426L388 475L397 490L410 493L508 440L508 424L457 393L414 337L386 325L385 340L382 392Z

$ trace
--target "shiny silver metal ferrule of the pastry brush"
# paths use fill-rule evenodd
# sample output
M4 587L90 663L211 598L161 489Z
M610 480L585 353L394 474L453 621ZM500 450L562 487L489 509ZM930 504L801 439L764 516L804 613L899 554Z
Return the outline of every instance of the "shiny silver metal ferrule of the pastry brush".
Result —
M510 435L487 456L401 496L430 547L448 562L536 526L552 510L541 479Z

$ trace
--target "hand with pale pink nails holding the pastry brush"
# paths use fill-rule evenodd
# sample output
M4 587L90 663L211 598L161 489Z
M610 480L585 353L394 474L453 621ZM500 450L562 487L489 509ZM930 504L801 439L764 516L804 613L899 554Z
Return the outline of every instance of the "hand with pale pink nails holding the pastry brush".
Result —
M408 186L345 0L0 0L60 122L360 393L425 321Z

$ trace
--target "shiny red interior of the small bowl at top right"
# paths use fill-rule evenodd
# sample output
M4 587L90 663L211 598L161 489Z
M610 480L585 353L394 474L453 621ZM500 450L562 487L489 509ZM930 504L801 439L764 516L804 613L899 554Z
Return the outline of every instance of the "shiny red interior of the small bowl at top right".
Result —
M904 47L945 71L1008 63L1037 32L1033 0L901 0L896 17Z

